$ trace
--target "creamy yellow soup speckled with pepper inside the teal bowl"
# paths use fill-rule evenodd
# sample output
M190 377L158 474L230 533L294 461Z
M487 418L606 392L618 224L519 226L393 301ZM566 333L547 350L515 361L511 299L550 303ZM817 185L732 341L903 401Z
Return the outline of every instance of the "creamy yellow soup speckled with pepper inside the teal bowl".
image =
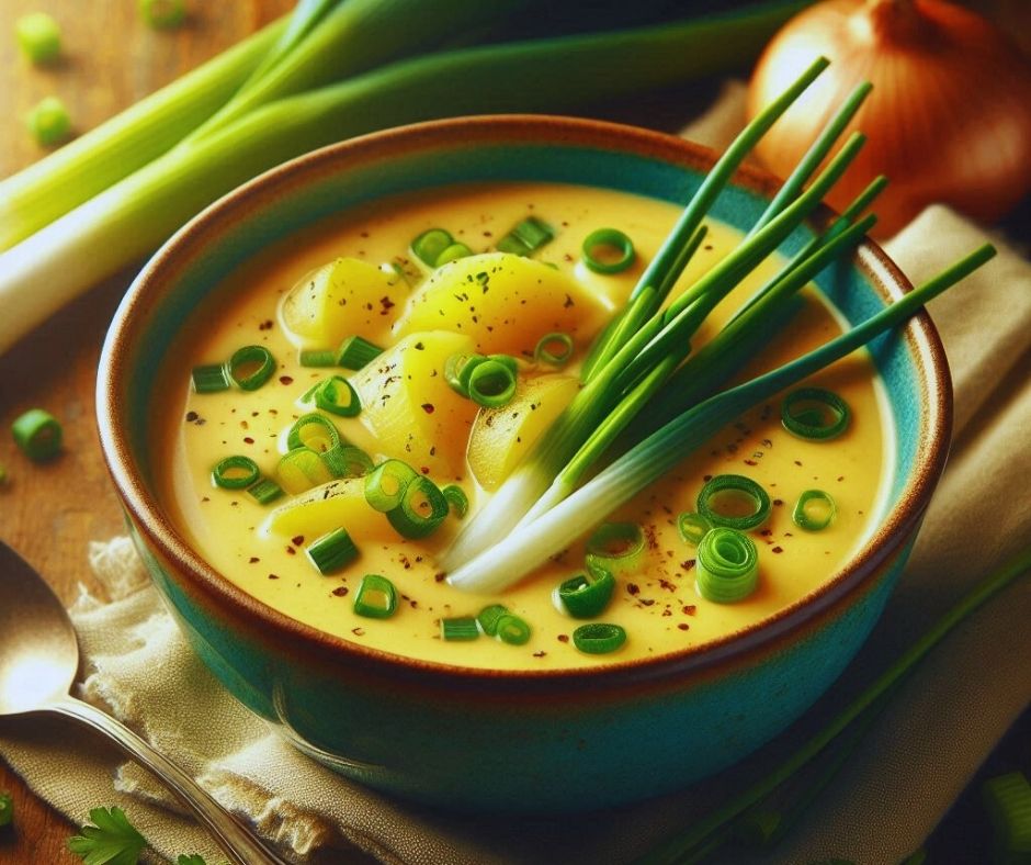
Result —
M398 280L378 303L353 311L353 333L388 347L401 338L399 332L406 332L406 316L413 315L411 297L419 292L419 271L408 251L411 238L442 226L474 252L484 252L492 250L498 238L528 215L541 217L557 231L555 239L534 257L582 284L593 299L585 306L584 318L597 326L625 301L679 209L608 190L545 184L467 187L399 198L350 212L270 248L240 268L197 310L160 383L162 400L169 401L165 405L170 404L167 416L173 423L156 432L159 459L155 464L165 469L158 479L161 494L179 528L227 580L299 621L361 645L453 665L554 670L658 656L732 634L817 588L862 542L883 506L881 479L891 457L884 448L883 396L865 352L852 355L807 382L836 392L851 407L850 426L839 438L809 441L794 437L781 426L780 400L770 401L686 457L675 471L610 517L641 525L646 539L642 566L620 577L611 603L598 618L626 631L624 645L610 654L580 653L571 634L584 622L559 611L553 603L555 586L584 570L582 537L569 538L565 551L503 593L477 595L449 585L438 564L439 555L461 528L462 521L454 515L432 537L419 541L400 538L385 520L363 520L363 530L350 529L359 558L339 573L321 575L304 555L305 544L314 537L304 531L286 536L268 529L269 514L288 504L287 498L260 505L242 491L213 485L213 465L230 454L250 457L263 474L274 476L284 452L283 430L310 411L298 405L298 397L328 374L347 373L352 380L358 375L299 364L296 339L291 340L284 332L277 310L283 295L302 277L340 256L375 266L403 266L415 285ZM580 262L584 237L600 226L620 228L633 238L637 260L630 270L600 276ZM735 229L710 222L705 244L673 296L739 239ZM775 261L764 262L722 303L694 340L695 348L775 270ZM449 323L441 322L439 327L447 328ZM503 329L499 325L498 330ZM575 372L592 336L590 330L585 326L575 333L578 353L574 366L563 372ZM815 292L807 293L802 312L743 377L779 366L839 332L832 311ZM192 392L192 367L222 362L240 346L251 344L267 346L277 361L264 386L253 392ZM532 378L540 372L528 364L521 375ZM440 450L430 443L430 450L422 452L432 464L415 467L438 484L457 482L469 494L473 510L465 520L488 495L464 459L475 411L473 407L462 418L440 419L441 425L452 424L450 428L437 427L442 430ZM345 439L363 447L376 462L387 456L406 457L403 452L383 453L361 417L333 417L333 423ZM749 532L759 548L758 588L734 604L713 603L699 594L695 550L677 530L677 516L695 509L705 480L724 473L754 479L773 502L769 520ZM791 518L800 494L811 488L826 491L837 506L835 520L822 531L804 531ZM355 614L354 596L367 573L383 574L396 586L400 603L393 617L373 619ZM531 626L529 642L511 645L486 636L468 642L441 639L441 618L475 616L494 603L503 604Z

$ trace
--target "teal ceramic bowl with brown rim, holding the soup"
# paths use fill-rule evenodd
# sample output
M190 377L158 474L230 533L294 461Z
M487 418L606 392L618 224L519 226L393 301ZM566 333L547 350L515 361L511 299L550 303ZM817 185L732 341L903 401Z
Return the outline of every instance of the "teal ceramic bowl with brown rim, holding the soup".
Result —
M713 160L678 138L579 120L474 117L394 130L313 153L238 189L139 274L101 361L107 465L155 585L194 650L297 748L372 787L449 808L612 806L741 759L797 718L863 643L945 460L951 390L926 316L871 346L895 429L890 502L874 536L802 602L678 655L501 673L354 645L257 603L216 573L155 493L147 430L160 416L151 382L162 358L197 302L269 244L362 202L466 181L582 183L683 202ZM775 188L769 176L741 171L715 215L747 228ZM808 236L800 228L784 250ZM853 322L909 288L873 244L818 282Z

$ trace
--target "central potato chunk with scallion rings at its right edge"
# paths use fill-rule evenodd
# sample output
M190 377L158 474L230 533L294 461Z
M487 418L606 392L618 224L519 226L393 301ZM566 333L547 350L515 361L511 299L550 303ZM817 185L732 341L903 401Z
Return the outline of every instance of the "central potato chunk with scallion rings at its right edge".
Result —
M351 377L362 401L359 420L376 447L416 471L463 474L475 403L451 390L444 363L473 350L473 339L446 330L410 334Z

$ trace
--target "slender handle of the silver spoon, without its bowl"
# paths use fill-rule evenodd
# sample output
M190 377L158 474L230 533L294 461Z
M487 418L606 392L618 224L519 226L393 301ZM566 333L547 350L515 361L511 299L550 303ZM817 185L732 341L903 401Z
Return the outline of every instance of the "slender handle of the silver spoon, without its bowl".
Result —
M141 766L157 775L211 831L234 865L288 865L286 860L269 850L249 829L230 816L190 775L125 724L97 707L70 696L47 708L75 718L103 733Z

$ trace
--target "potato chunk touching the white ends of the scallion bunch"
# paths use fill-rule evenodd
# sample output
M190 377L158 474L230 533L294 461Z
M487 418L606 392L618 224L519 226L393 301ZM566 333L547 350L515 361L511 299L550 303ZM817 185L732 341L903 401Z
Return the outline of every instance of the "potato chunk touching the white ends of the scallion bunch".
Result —
M485 490L501 485L579 386L571 375L539 375L520 380L508 405L480 409L469 437L468 460Z

